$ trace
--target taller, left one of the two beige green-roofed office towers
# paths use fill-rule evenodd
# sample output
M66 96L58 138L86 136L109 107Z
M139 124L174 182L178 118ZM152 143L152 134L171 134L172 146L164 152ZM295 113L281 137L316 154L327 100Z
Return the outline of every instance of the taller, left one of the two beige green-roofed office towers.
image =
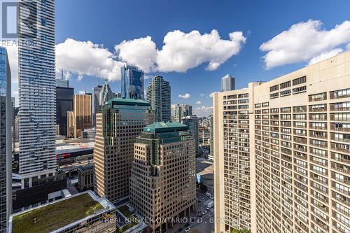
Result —
M154 122L150 104L141 99L115 98L96 115L94 191L111 202L129 195L134 142Z

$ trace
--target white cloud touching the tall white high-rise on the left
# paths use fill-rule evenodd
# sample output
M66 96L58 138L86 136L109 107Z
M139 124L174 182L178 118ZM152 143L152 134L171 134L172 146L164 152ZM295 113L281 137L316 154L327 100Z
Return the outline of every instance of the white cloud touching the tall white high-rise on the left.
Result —
M56 45L56 69L78 74L78 80L84 75L120 79L120 67L123 62L115 60L115 55L102 45L91 41L76 41L67 38Z

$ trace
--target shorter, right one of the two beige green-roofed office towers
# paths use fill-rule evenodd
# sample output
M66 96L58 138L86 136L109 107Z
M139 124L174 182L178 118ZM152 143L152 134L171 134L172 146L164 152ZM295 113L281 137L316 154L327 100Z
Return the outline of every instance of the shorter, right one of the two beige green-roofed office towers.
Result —
M148 221L148 232L168 232L171 220L196 209L195 140L188 126L155 122L144 127L134 145L130 203Z

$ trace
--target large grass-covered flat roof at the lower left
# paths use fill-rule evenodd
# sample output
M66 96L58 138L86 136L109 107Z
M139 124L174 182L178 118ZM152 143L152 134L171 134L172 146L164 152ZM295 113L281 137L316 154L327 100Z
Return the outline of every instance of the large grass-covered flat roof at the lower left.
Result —
M114 207L104 200L87 191L14 214L10 219L12 232L44 233L68 227Z

